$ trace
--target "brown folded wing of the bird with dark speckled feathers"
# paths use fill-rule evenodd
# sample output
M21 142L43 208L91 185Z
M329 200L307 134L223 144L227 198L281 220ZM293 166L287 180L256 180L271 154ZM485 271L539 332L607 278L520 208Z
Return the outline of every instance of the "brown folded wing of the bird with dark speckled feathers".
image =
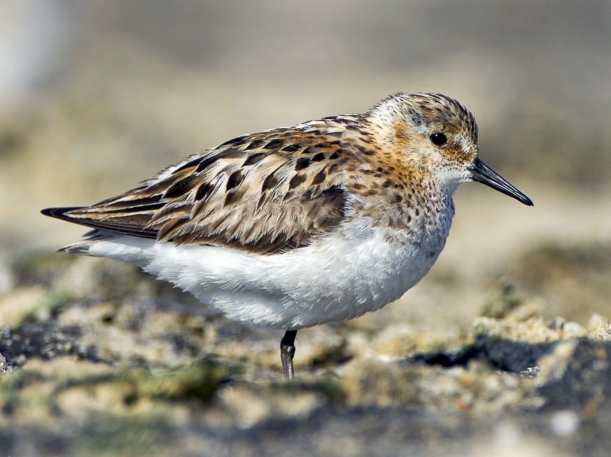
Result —
M342 122L329 119L239 137L126 194L64 219L176 244L273 254L308 244L344 217Z

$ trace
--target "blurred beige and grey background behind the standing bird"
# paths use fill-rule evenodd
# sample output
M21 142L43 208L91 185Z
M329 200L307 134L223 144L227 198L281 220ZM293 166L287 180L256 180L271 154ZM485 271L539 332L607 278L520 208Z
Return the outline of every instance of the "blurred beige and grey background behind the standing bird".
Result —
M610 44L608 0L2 0L0 253L73 242L39 210L231 137L435 91L535 206L461 187L431 274L355 325L469 323L499 278L549 316L610 315Z

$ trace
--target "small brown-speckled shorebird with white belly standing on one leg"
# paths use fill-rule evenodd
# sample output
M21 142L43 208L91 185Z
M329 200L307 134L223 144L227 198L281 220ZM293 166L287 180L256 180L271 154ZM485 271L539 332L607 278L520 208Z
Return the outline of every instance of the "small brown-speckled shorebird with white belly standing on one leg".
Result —
M92 206L43 214L89 226L61 251L139 266L227 318L299 329L397 300L430 270L478 181L532 201L478 158L474 116L435 93L397 93L364 114L253 133L191 155Z

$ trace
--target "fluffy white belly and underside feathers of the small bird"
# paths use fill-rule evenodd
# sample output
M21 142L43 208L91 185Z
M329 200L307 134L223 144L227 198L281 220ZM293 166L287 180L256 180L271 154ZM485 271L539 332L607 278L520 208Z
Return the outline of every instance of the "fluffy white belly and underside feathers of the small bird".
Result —
M94 242L89 254L139 265L229 319L297 330L355 318L397 300L435 263L449 224L435 240L412 243L389 242L381 229L352 227L271 256L130 236Z

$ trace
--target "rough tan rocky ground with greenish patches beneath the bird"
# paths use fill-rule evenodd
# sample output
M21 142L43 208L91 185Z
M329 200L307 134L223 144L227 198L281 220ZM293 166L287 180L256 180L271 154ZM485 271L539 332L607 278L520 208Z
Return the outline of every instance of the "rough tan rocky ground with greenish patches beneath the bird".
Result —
M607 318L543 318L541 301L508 281L466 326L304 330L286 382L281 332L215 316L128 265L31 254L0 276L3 455L603 456L611 446Z

